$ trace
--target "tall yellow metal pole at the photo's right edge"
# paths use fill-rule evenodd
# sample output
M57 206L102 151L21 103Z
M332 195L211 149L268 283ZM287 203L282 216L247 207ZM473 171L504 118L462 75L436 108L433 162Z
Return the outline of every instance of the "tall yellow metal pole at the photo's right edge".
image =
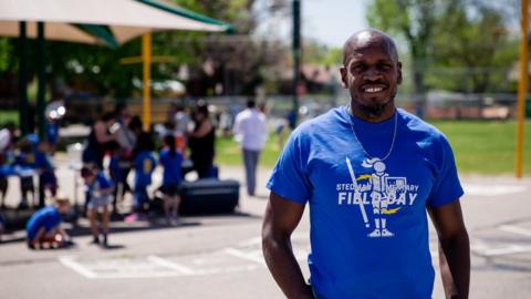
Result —
M528 93L529 58L528 58L528 32L529 32L529 3L521 3L521 35L520 35L520 81L518 84L518 111L517 111L517 165L516 176L522 177L523 173L523 125L525 122L525 95Z

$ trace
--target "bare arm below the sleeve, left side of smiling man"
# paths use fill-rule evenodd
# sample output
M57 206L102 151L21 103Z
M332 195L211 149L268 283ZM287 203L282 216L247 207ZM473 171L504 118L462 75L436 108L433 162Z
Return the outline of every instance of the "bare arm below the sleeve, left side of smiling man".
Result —
M288 298L313 298L291 246L304 205L271 193L262 225L262 251L274 280Z

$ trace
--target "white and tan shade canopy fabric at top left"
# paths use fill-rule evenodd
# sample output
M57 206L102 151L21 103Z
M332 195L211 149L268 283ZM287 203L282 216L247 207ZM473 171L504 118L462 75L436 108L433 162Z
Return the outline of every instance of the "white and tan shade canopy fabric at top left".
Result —
M70 24L107 25L118 43L162 30L227 31L230 25L154 0L0 0L0 35L18 37L18 22L28 22L28 37L37 37L37 22L45 23L50 40L102 43Z

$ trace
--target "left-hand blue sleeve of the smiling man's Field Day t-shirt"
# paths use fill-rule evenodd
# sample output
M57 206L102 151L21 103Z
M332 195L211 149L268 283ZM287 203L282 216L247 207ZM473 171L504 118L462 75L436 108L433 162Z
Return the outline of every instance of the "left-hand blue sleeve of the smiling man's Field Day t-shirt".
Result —
M305 151L299 131L293 132L269 178L267 187L271 192L300 204L309 200L312 188L305 172Z

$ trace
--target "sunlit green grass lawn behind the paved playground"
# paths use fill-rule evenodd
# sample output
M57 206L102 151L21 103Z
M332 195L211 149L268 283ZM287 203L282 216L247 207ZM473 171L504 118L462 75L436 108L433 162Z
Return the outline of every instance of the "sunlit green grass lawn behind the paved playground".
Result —
M516 122L438 121L431 122L448 136L460 173L512 174L514 172ZM221 165L242 165L238 143L231 137L217 140L216 161ZM273 167L280 153L271 135L260 165ZM531 174L531 122L525 124L524 173Z

